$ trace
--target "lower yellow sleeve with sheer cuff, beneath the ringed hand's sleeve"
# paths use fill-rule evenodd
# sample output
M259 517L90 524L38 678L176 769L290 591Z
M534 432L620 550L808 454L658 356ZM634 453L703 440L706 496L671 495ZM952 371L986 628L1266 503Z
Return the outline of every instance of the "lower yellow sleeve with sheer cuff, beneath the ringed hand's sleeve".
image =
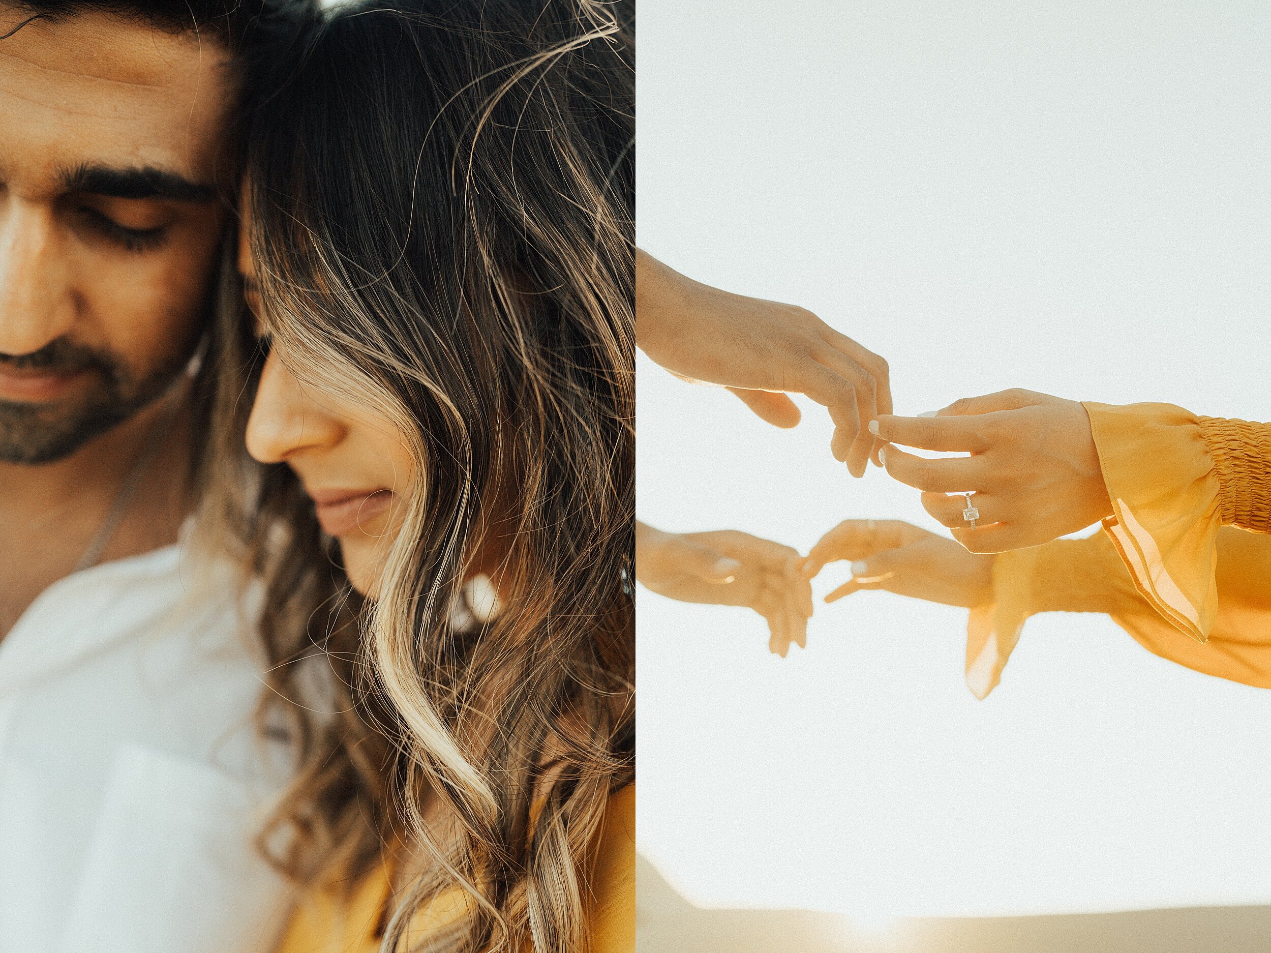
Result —
M1199 642L1141 593L1111 536L1055 540L994 558L994 602L971 610L967 686L998 684L1024 621L1038 612L1103 612L1163 658L1219 679L1271 689L1271 536L1233 527L1215 540L1216 607Z

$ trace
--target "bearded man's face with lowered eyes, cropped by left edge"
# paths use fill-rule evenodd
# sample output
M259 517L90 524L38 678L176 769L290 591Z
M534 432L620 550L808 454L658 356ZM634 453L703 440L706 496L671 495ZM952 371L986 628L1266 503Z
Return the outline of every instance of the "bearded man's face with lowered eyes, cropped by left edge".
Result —
M0 36L29 17L0 0ZM74 452L189 358L224 219L228 60L99 13L0 39L0 461Z

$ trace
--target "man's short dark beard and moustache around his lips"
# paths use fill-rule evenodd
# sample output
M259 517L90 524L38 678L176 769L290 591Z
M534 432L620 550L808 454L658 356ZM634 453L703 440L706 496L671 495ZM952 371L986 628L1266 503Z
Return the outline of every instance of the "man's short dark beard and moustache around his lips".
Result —
M0 400L0 461L48 464L70 456L159 396L182 365L183 360L175 357L139 376L114 355L65 338L31 355L0 355L0 367L88 372L93 379L88 391L67 400L43 404Z

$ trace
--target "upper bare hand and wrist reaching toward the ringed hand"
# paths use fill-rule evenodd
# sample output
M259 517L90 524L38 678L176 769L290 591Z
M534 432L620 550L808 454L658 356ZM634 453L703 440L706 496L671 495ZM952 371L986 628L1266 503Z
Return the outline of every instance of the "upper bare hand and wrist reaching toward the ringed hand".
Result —
M876 449L864 426L891 413L887 362L878 355L811 311L702 285L639 250L636 339L672 374L727 386L778 427L799 419L787 393L829 408L830 451L854 476Z

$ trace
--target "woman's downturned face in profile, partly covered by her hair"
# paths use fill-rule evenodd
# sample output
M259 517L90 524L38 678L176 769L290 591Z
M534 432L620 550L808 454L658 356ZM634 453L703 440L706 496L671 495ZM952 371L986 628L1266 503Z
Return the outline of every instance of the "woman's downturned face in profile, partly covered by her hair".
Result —
M248 306L259 314L245 233L239 240L239 271ZM318 522L339 541L350 582L374 597L400 524L402 494L414 480L414 460L400 431L366 408L301 384L273 348L248 419L247 449L261 463L292 469L314 501Z

